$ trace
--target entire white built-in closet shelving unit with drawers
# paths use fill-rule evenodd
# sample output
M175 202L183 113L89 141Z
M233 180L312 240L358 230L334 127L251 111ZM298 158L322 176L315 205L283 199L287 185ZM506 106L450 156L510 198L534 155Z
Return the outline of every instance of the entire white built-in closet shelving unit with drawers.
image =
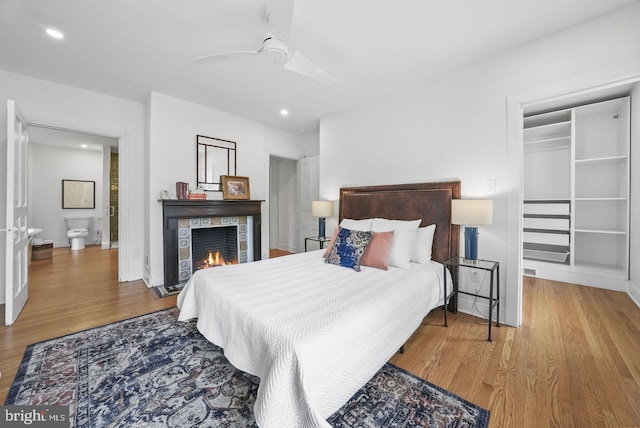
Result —
M524 118L525 268L628 279L629 105L624 97Z

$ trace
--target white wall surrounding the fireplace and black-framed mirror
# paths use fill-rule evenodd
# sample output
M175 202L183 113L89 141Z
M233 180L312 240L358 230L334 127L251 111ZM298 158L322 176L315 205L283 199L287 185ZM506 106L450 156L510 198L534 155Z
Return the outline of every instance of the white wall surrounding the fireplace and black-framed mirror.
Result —
M175 193L175 183L186 181L195 187L196 135L235 141L237 175L248 176L251 199L266 200L269 194L269 153L285 158L303 156L307 139L262 123L225 113L168 95L152 92L148 104L148 239L145 240L144 280L155 286L164 282L162 259L162 204L160 192ZM311 137L312 140L312 137ZM302 143L300 143L302 141ZM220 192L208 192L209 199L222 199ZM269 206L262 204L262 258L269 257Z

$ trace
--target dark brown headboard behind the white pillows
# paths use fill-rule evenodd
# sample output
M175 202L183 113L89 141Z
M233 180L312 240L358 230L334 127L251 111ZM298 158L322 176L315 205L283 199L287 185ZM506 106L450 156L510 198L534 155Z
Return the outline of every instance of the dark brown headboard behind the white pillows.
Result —
M460 227L451 224L451 199L460 199L460 187L460 181L343 187L340 221L380 217L435 224L432 259L442 263L458 255Z

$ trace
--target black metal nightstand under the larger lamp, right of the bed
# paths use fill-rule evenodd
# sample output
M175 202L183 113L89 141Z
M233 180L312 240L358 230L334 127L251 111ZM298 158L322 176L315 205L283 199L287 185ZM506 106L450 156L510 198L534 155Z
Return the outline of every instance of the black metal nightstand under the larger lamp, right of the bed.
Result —
M453 280L453 291L447 296L447 301L450 297L457 294L466 294L468 296L474 296L481 299L489 300L489 337L487 341L491 342L491 316L493 315L493 309L496 309L496 327L500 327L500 263L492 260L468 260L464 257L452 257L444 265L444 289L446 294L447 289L447 274L446 270L449 268L451 272L451 278ZM460 269L478 269L489 272L489 297L482 296L476 293L470 293L467 291L459 290L459 278ZM457 297L457 296L456 296ZM457 313L458 309L454 313ZM447 325L447 311L444 312L444 324Z

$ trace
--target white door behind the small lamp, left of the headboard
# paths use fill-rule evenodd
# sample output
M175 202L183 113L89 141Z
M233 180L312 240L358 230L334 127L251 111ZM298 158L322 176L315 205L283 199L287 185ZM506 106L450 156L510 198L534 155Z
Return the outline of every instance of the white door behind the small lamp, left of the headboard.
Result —
M304 251L304 238L318 236L318 218L311 215L311 202L317 201L320 194L319 175L319 156L310 156L298 161L298 218L301 237L299 251ZM309 249L318 249L317 245L316 242L309 242Z

